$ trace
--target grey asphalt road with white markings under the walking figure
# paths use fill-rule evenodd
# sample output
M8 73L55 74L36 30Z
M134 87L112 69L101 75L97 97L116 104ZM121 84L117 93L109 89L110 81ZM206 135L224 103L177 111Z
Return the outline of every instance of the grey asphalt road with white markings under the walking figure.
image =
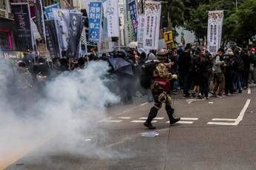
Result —
M104 133L85 134L80 152L62 152L53 139L17 157L7 169L220 169L256 168L256 89L251 94L182 99L174 108L182 118L168 126L165 110L157 115L157 137L142 137L142 122L153 103L140 99L131 105L108 108L99 120ZM45 152L52 148L59 152Z

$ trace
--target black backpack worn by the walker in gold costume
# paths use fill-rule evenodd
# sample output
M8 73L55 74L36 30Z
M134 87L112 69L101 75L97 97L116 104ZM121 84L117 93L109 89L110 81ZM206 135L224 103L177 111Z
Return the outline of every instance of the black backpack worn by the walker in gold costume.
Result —
M140 85L144 89L150 89L152 82L154 81L154 69L156 63L154 60L146 61L142 65L142 73L140 74Z

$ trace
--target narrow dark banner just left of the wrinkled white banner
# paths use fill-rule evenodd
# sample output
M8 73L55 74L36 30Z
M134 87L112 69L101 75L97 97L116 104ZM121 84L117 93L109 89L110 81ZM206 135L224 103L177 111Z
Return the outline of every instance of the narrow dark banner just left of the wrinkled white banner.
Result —
M59 53L59 41L57 38L55 22L53 19L45 21L45 35L50 58L61 58Z

